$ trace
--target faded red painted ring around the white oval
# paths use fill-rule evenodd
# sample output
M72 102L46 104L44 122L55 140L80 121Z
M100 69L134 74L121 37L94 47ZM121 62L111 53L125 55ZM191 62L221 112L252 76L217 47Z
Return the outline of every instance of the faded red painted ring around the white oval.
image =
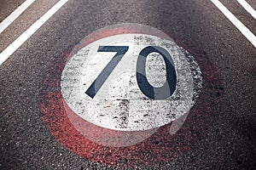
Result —
M73 151L81 157L90 159L90 161L129 167L169 161L173 157L182 155L190 149L191 145L196 144L199 139L198 133L206 132L207 128L211 126L212 122L209 120L209 117L216 116L214 114L218 113L216 108L220 105L219 94L222 93L222 83L219 80L217 69L201 50L196 50L193 47L189 47L189 49L183 47L194 55L195 60L201 67L203 88L201 96L194 107L191 108L183 127L173 135L169 133L171 124L160 127L159 129L151 129L143 132L124 132L98 127L90 122L84 121L77 114L73 113L61 96L61 72L73 54L78 52L79 49L84 48L90 42L102 39L103 37L127 33L144 33L168 38L166 34L154 28L134 24L111 26L85 37L75 45L72 51L67 51L67 53L57 57L54 65L49 67L49 70L46 72L44 82L42 83L39 104L42 111L42 119L55 139L68 150ZM73 126L73 122L76 122L77 125L86 125L86 128L84 128L85 132L83 133L87 133L90 137L96 139L104 139L105 141L109 139L110 144L122 142L120 139L126 139L123 142L131 139L132 142L133 140L144 139L145 136L149 138L143 140L141 143L127 147L104 146L101 144L101 141L95 143L84 137Z

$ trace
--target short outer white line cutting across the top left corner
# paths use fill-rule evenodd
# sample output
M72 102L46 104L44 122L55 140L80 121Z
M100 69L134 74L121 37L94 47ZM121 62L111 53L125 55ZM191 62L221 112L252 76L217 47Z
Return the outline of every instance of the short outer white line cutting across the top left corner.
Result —
M16 8L12 14L10 14L5 20L0 23L0 34L13 22L15 21L20 14L22 14L26 8L28 8L35 0L26 0L24 3L20 5L20 7Z

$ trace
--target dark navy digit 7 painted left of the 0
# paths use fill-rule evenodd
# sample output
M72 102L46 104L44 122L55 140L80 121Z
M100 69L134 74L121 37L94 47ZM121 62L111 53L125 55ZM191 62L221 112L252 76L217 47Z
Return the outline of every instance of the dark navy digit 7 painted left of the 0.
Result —
M122 57L125 55L125 53L128 51L128 46L100 46L98 48L97 52L117 52L113 59L111 59L106 65L106 67L102 70L100 75L96 77L95 81L92 82L90 85L90 88L87 89L85 94L89 95L90 98L94 98L96 93L99 91L100 88L102 88L103 83L107 80L113 69L116 67L116 65L119 64L119 61L122 59Z

